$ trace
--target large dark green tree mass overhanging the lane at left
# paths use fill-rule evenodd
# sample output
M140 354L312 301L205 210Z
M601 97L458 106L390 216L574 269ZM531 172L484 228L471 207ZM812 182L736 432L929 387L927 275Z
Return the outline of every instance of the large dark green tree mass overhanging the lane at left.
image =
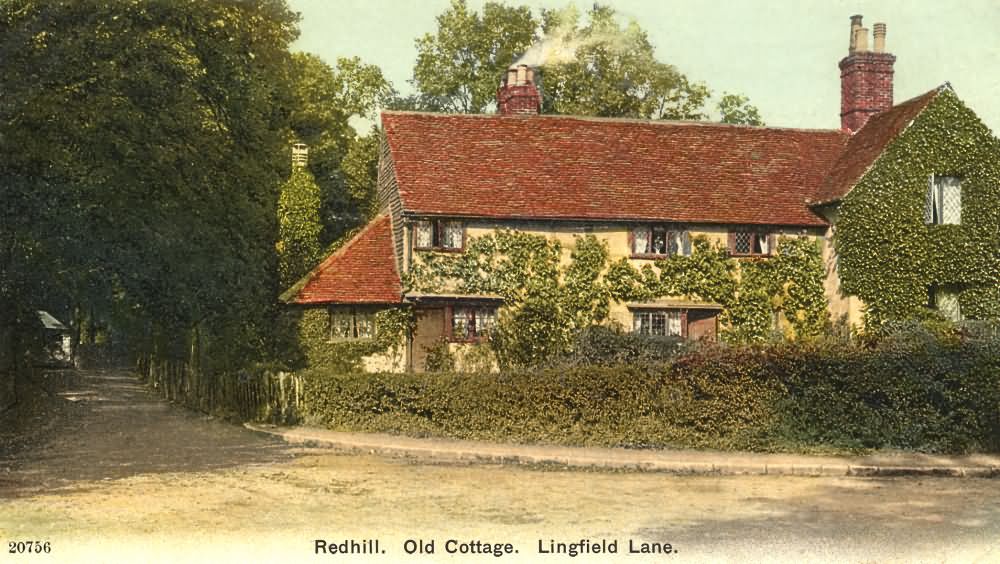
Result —
M296 23L284 0L3 0L3 307L258 344Z

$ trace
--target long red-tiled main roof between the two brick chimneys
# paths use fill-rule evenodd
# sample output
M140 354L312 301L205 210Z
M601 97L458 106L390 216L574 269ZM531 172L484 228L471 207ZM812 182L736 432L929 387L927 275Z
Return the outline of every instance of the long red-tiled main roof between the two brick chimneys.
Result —
M489 218L824 225L848 135L566 116L384 112L403 209Z

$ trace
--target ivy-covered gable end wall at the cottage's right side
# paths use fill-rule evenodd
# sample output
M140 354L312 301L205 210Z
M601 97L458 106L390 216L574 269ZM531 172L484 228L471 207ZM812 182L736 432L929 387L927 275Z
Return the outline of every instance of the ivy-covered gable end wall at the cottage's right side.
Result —
M927 225L931 175L961 179L960 225ZM925 317L928 287L971 319L1000 319L1000 141L943 88L843 198L834 245L842 291L866 322Z

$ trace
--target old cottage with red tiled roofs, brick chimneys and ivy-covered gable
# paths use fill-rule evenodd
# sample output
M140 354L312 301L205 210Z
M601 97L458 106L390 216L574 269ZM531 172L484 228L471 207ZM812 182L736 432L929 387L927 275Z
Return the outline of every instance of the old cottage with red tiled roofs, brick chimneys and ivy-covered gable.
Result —
M462 291L459 275L428 290L417 274L509 230L559 243L564 265L593 236L640 272L697 252L694 241L748 263L806 239L821 249L831 318L996 316L996 139L947 84L893 105L885 36L875 24L869 49L851 18L838 130L539 115L523 65L503 78L495 115L384 112L381 214L283 299L319 308L331 341L370 340L380 311L412 308L398 356L365 366L421 370L435 343L486 338L504 297ZM714 339L722 301L612 300L606 321Z

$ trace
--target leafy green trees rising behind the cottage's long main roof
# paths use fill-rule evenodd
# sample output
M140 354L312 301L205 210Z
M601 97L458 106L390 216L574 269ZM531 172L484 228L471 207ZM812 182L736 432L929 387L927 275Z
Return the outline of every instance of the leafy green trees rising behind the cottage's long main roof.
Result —
M708 87L657 59L639 24L619 19L596 4L585 18L572 7L536 18L526 6L487 2L480 15L465 0L452 0L437 32L416 42L417 93L393 105L482 113L492 107L504 70L524 62L540 69L544 113L707 119Z

